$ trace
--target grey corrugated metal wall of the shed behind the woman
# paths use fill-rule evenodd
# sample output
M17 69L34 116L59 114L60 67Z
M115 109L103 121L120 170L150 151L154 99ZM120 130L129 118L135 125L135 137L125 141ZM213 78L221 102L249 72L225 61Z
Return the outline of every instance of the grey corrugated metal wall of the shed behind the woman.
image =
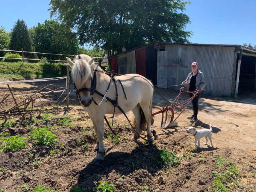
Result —
M232 92L234 47L187 46L166 44L164 52L158 52L158 86L180 90L191 71L191 63L198 62L204 73L206 87L203 94L228 95ZM234 74L235 75L235 74Z

